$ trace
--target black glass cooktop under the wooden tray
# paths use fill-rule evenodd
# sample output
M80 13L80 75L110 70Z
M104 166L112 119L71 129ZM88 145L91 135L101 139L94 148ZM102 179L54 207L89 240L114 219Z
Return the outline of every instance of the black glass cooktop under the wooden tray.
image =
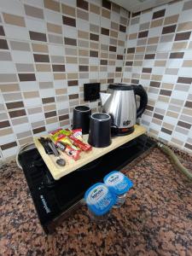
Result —
M20 163L41 224L45 227L80 201L92 184L102 181L108 172L120 170L154 145L153 140L142 135L58 181L51 176L38 149L33 148L21 154Z

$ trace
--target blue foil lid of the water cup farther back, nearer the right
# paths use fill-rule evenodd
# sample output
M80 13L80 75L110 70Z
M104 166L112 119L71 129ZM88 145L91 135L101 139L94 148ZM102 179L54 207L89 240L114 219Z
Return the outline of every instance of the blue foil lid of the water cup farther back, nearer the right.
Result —
M108 188L116 195L125 194L133 186L133 183L128 177L117 171L108 173L103 180Z

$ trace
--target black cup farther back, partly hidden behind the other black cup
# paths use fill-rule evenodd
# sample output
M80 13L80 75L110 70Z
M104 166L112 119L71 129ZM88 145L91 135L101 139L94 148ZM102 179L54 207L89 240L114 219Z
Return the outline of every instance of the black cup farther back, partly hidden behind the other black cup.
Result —
M77 106L73 109L73 129L82 128L82 133L90 130L91 109L87 106Z

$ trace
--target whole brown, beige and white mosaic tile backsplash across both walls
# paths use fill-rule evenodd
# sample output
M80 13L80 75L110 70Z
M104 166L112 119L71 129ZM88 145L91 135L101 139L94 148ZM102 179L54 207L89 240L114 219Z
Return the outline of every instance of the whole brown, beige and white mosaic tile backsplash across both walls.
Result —
M192 149L192 1L132 14L102 0L0 0L0 157L71 125L83 84L143 84L140 120Z

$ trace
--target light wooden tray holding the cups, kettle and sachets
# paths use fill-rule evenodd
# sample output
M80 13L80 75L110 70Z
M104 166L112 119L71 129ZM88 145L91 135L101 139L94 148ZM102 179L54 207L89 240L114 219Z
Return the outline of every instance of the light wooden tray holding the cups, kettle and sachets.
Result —
M44 147L41 143L38 142L38 137L33 137L34 143L36 147L38 148L38 152L41 154L45 164L48 166L50 173L55 179L59 179L65 175L67 175L70 172L73 172L77 169L79 169L81 166L84 166L88 163L90 163L92 160L96 160L97 158L101 157L103 154L107 154L108 152L112 151L115 148L118 148L119 146L128 143L132 139L142 135L146 132L146 129L141 125L135 125L135 131L132 132L130 135L125 135L122 137L114 137L112 139L112 143L107 148L92 148L92 150L89 153L81 152L80 159L75 161L67 154L61 153L61 158L64 158L66 160L66 166L58 166L55 163L55 156L46 154L44 151ZM49 137L49 136L44 136ZM84 142L87 142L88 135L83 136Z

